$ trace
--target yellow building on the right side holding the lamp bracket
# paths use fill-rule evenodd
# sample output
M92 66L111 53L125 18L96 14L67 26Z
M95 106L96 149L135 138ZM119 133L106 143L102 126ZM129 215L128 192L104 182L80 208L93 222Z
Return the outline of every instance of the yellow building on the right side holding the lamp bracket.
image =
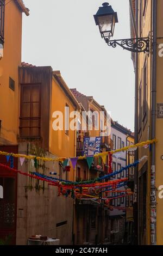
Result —
M136 167L135 235L139 245L162 245L162 8L161 0L129 1L131 38L148 38L146 53L132 53L135 69L135 143L156 138L148 148L139 148Z

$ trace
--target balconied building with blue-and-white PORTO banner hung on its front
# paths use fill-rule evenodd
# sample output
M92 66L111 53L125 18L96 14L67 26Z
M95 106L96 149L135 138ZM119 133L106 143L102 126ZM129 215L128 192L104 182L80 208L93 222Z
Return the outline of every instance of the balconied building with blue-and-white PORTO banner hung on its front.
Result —
M106 126L106 110L104 106L99 105L93 97L86 96L79 93L77 89L71 89L71 92L76 97L78 102L82 104L83 111L87 113L97 112L95 117L92 117L92 130L87 130L77 136L77 155L81 156L83 153L84 137L99 137L102 136L102 121ZM100 119L100 112L104 112L104 120ZM89 114L88 117L89 118ZM100 124L98 126L98 124ZM88 125L87 125L88 127ZM100 152L110 151L112 143L110 135L102 136L102 143ZM86 180L95 179L104 174L108 174L108 157L105 163L100 159L93 160L92 166L89 169L86 160L78 160L76 169L76 179ZM101 167L100 169L97 166ZM97 245L99 243L109 242L110 236L110 222L109 210L103 204L98 204L92 200L76 200L74 206L74 243L77 245L90 244Z

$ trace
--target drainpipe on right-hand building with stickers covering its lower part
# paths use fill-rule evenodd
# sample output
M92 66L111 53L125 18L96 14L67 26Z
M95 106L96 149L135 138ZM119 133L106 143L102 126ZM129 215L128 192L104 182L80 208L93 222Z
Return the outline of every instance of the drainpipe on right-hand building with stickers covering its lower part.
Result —
M156 123L156 53L157 53L157 1L153 0L153 56L152 56L152 139L155 138L155 123ZM151 179L151 245L156 245L156 189L155 189L155 143L152 144L151 158L151 174L154 174L154 180ZM155 195L153 200L152 195ZM153 212L155 211L155 217ZM154 219L154 222L152 221ZM154 225L154 230L152 230Z

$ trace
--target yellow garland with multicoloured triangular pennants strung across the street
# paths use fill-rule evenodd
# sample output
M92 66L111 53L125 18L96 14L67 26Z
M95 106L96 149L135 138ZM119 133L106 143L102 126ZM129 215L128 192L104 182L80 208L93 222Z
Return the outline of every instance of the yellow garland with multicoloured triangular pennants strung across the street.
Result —
M23 165L24 160L26 160L26 159L30 160L32 162L32 166L35 166L35 168L37 167L37 163L40 160L42 160L42 161L51 161L51 162L55 162L55 161L63 162L64 166L69 166L70 165L70 160L71 160L72 166L73 166L73 168L75 168L78 160L85 160L86 159L89 168L91 168L91 164L93 162L94 157L101 157L101 159L105 163L106 162L106 156L108 156L108 155L110 155L110 156L114 155L115 157L120 157L120 155L118 155L118 153L120 153L121 151L127 151L127 150L128 151L135 151L138 147L145 147L145 148L149 147L150 148L151 144L156 143L156 142L157 142L156 139L152 139L152 140L149 140L149 141L146 141L146 142L137 143L135 145L130 145L128 147L124 147L124 148L117 149L117 150L114 150L114 151L103 152L103 153L99 153L99 154L92 155L92 156L69 157L68 159L67 159L67 157L50 158L50 157L40 157L40 156L33 156L33 155L22 155L22 154L7 153L7 152L4 152L4 151L0 151L0 155L6 156L7 162L9 162L9 160L10 160L10 166L11 167L14 167L14 157L17 157L17 158L20 159L21 166ZM110 166L111 166L111 164L110 164ZM110 169L110 166L109 166L109 169ZM109 172L110 172L110 170L109 170Z

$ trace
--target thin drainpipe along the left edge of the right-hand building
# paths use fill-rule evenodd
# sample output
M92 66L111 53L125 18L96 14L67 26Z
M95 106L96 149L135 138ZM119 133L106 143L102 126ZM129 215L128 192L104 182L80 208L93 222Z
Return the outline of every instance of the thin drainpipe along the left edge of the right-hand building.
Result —
M138 27L138 0L136 0L136 26ZM138 53L135 53L135 144L138 143ZM138 150L135 151L135 161L138 159ZM138 168L135 167L134 172L134 204L133 204L133 216L134 216L134 244L138 244Z

